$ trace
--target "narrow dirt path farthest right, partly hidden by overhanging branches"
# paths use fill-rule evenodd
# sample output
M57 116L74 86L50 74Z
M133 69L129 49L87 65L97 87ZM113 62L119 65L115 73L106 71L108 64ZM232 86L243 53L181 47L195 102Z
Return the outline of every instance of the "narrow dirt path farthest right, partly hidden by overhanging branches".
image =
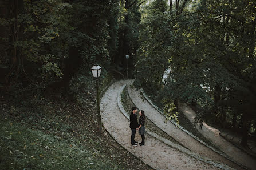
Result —
M196 114L187 106L187 104L179 104L179 108L190 122L194 122ZM235 147L229 141L223 139L223 137L219 135L220 131L218 129L208 126L204 122L202 129L200 129L199 125L197 125L196 128L204 137L210 140L211 143L218 147L222 152L226 153L226 155L229 155L235 161L238 161L250 169L256 169L256 160L247 153L241 151L241 149Z

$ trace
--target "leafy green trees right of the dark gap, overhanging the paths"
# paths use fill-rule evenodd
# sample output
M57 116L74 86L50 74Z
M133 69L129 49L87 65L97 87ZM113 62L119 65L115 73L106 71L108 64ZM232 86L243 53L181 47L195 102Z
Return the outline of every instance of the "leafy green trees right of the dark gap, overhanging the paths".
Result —
M136 82L194 106L198 119L255 132L253 1L153 1L140 31ZM159 92L158 91L158 92ZM156 93L155 93L156 94ZM200 121L199 121L200 122Z

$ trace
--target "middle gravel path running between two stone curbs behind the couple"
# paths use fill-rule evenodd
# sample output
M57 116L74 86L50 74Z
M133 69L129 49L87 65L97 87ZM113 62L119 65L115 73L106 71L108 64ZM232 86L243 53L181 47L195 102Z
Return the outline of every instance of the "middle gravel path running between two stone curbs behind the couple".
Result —
M226 159L225 157L219 155L218 153L212 151L210 148L204 146L199 141L195 140L193 137L187 135L184 131L176 127L170 121L166 124L164 123L164 116L160 114L158 111L155 110L153 106L146 99L141 99L143 96L140 95L140 91L136 90L135 88L129 87L129 96L133 100L133 103L136 104L140 110L145 111L145 115L150 119L152 122L156 124L159 128L161 128L164 132L168 135L173 137L176 141L182 144L184 147L190 149L191 151L198 153L204 157L208 157L212 160L218 161L223 164L227 164L232 168L235 169L242 169L237 164L234 164L230 160Z

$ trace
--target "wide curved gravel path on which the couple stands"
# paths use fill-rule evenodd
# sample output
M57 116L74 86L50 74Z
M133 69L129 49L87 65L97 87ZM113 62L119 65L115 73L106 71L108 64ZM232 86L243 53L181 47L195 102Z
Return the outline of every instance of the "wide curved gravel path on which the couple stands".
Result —
M133 155L155 169L216 169L212 165L194 159L147 134L145 136L147 141L143 147L131 145L129 120L120 112L117 105L119 90L123 84L131 82L132 80L123 80L113 83L101 99L101 120L112 137ZM135 140L140 140L138 133L136 133Z

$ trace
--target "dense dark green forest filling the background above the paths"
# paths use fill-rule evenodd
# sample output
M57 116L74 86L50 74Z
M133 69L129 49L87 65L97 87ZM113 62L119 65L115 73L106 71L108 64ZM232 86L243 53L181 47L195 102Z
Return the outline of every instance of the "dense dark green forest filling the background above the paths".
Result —
M244 146L255 135L255 1L4 0L0 9L3 96L65 96L94 64L123 76L128 64L164 105L190 104L199 123L241 132Z

